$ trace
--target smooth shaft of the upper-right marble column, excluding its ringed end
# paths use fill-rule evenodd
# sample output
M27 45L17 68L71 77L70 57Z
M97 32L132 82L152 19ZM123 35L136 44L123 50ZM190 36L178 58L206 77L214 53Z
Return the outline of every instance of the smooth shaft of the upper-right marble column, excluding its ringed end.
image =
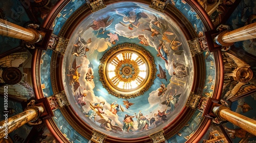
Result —
M256 38L256 22L242 28L225 33L222 40L225 43L233 43Z

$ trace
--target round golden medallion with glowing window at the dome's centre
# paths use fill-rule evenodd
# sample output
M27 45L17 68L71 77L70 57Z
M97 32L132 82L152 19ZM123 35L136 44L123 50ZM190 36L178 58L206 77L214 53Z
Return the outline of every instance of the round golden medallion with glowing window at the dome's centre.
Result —
M154 57L136 44L112 47L100 59L100 81L110 94L118 98L135 98L154 83Z

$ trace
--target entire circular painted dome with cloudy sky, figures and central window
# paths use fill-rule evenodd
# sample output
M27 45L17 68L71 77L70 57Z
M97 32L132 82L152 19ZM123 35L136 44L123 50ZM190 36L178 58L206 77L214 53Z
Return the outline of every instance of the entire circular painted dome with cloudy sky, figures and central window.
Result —
M139 3L116 3L73 32L62 65L68 99L85 124L109 136L161 130L185 107L193 59L179 26Z

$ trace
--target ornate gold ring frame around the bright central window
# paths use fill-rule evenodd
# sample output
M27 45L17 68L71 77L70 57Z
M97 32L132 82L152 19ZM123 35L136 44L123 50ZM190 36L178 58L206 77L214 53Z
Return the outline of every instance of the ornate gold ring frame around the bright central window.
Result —
M121 89L118 89L113 85L112 82L110 82L107 75L107 67L110 64L110 60L113 58L113 56L116 53L121 53L122 51L131 51L138 53L138 55L141 56L141 58L147 63L147 75L144 81L136 88L133 88L132 91L124 91ZM147 91L153 84L154 79L156 78L156 64L154 62L154 57L146 51L143 47L131 44L131 43L123 43L118 44L114 47L112 47L108 52L106 52L102 58L100 59L100 65L99 65L99 77L100 81L103 85L103 87L108 90L110 94L112 94L115 97L123 98L123 99L130 99L135 98L140 95L142 95L145 91Z

